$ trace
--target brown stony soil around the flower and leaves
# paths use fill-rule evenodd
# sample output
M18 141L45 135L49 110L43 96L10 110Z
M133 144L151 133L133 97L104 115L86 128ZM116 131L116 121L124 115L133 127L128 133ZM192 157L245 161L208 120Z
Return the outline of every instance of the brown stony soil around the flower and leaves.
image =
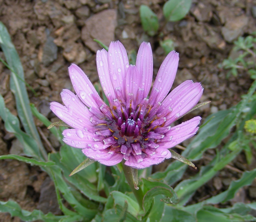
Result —
M137 51L142 41L149 41L154 56L154 77L164 60L164 50L159 42L172 39L180 53L179 70L174 82L192 79L201 82L204 94L201 102L212 102L191 114L203 118L224 110L241 99L252 81L246 72L238 77L220 70L218 64L228 57L233 41L256 31L256 1L253 0L193 0L188 15L178 22L165 24L162 8L164 0L0 0L0 20L7 26L12 41L20 55L28 84L36 90L29 92L30 101L52 122L57 118L49 109L49 102L59 101L63 88L72 89L67 68L78 64L92 82L98 81L95 52L101 47L93 39L109 45L120 40L128 53ZM139 18L140 4L148 5L158 16L161 35L148 37ZM0 51L0 56L4 58ZM16 107L9 88L9 70L0 63L0 93L13 114ZM173 87L174 87L173 86ZM36 121L40 134L58 149L60 144L49 130ZM183 143L186 146L188 142ZM50 147L46 147L49 149ZM12 133L0 125L0 155L21 154L19 142ZM214 151L206 153L197 166L206 165ZM190 203L201 201L227 189L230 181L241 172L255 168L248 166L244 154L232 166L200 188ZM189 176L190 172L187 172ZM0 161L0 200L9 198L20 203L23 209L40 209L60 214L54 199L54 188L47 175L36 166L15 160ZM52 197L53 196L53 197ZM256 183L241 189L233 202L256 200ZM50 203L50 204L49 204ZM232 204L232 203L230 203ZM219 206L221 207L221 206ZM8 213L0 213L0 221L20 221Z

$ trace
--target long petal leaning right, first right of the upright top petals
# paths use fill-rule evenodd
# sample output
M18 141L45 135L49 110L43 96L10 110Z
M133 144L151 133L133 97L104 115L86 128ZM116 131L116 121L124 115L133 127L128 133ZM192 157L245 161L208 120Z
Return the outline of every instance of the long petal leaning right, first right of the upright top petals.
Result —
M156 80L152 88L152 93L149 96L149 103L151 105L155 102L162 102L167 93L169 93L176 76L178 63L179 53L175 51L170 52L164 59L164 62L160 66L157 73ZM158 93L155 96L153 93L156 92Z

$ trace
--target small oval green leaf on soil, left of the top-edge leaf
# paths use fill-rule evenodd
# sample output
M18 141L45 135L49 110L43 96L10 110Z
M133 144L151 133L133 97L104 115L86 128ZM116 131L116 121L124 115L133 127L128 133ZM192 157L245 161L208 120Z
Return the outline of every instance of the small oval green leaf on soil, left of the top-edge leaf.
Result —
M147 6L140 5L140 19L143 30L150 36L157 33L159 23L156 14Z

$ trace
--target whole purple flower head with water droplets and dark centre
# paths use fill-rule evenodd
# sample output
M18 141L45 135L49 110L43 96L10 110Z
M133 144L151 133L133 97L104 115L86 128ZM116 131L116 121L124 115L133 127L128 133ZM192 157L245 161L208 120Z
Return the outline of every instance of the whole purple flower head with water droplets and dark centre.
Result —
M99 50L96 57L109 106L84 72L72 64L68 71L76 95L64 89L61 98L65 106L51 103L52 111L73 128L63 131L63 141L107 166L124 159L125 165L140 169L170 158L168 148L192 137L201 119L197 116L170 126L193 108L203 93L200 83L191 80L169 93L178 61L175 51L166 56L149 94L153 76L150 44L143 42L136 65L129 65L124 46L111 42L108 52Z

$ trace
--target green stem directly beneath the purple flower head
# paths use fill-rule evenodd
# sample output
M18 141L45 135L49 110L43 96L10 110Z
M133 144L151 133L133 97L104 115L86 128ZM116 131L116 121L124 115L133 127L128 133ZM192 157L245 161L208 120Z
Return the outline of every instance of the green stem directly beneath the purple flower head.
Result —
M134 181L133 181L132 168L130 166L124 165L124 161L122 161L122 166L123 166L125 178L129 184L134 196L136 197L136 199L139 203L140 210L143 210L142 203L143 203L144 195L143 195L142 189L139 189L139 188L135 189L135 187L137 187L137 185L134 184Z

